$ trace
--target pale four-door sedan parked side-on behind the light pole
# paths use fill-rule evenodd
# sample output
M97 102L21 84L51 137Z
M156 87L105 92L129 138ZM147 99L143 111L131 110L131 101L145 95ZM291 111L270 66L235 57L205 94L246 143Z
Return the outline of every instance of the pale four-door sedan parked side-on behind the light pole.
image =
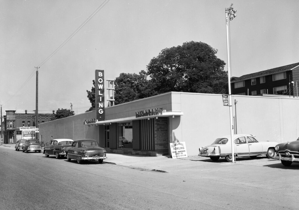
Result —
M235 134L232 136L234 142L235 157L250 156L255 158L259 155L266 155L272 158L275 155L274 147L277 144L272 141L257 141L251 134ZM199 148L198 156L210 157L216 161L224 157L226 161L232 161L231 136L223 136L216 139L211 145Z

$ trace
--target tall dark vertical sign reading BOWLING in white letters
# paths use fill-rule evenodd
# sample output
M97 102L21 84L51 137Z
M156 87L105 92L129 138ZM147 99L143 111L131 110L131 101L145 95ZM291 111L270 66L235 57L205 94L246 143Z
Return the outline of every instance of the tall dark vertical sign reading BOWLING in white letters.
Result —
M95 70L95 95L96 95L96 114L97 121L105 120L105 87L104 87L104 70Z

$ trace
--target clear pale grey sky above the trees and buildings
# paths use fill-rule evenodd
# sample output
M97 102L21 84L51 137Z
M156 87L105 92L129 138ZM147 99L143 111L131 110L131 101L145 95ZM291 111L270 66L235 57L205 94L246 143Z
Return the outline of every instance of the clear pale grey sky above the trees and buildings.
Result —
M231 76L299 62L298 0L0 0L2 115L34 113L35 67L39 113L80 114L91 106L95 69L105 80L138 74L162 49L190 41L228 63L231 3Z

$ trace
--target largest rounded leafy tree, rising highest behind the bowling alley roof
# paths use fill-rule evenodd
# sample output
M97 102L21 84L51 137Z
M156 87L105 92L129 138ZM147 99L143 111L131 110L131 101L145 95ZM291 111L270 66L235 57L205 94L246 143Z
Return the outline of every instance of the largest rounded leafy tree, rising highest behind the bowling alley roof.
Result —
M147 65L153 92L227 92L225 62L216 53L210 45L194 41L163 49Z

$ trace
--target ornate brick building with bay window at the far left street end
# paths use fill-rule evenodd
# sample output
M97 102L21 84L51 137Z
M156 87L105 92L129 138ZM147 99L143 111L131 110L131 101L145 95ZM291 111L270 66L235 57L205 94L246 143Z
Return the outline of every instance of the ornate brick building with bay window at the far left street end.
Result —
M16 113L15 110L6 110L6 115L4 115L4 122L2 122L4 133L4 144L16 143L18 139L22 138L22 131L20 127L33 127L35 126L35 113ZM38 123L44 123L51 121L54 117L55 111L52 114L38 114ZM36 126L38 127L38 125ZM38 139L38 136L33 136Z

